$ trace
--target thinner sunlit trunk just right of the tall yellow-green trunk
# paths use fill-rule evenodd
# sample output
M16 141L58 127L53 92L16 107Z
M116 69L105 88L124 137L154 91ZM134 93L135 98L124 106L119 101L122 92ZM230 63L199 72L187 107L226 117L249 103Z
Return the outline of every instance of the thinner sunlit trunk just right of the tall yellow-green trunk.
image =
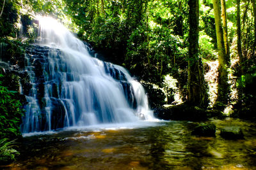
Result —
M225 51L227 57L227 64L230 66L230 48L228 42L228 27L227 27L227 11L225 0L221 0L221 18L223 22L223 39L225 43Z

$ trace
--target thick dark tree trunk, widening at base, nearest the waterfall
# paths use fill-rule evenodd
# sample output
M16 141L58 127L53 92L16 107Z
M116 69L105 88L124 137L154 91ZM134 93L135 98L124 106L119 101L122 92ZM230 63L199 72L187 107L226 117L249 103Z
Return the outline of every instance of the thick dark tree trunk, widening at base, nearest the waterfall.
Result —
M189 0L188 103L205 106L207 97L202 61L198 57L199 3Z

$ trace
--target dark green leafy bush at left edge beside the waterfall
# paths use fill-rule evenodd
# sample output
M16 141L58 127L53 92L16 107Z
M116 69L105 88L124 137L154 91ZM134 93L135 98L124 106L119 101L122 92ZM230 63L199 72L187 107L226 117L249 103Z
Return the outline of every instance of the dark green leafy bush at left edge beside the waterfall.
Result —
M0 78L3 75L0 74ZM0 136L1 138L16 138L20 136L21 116L24 110L17 99L17 92L8 90L0 81Z

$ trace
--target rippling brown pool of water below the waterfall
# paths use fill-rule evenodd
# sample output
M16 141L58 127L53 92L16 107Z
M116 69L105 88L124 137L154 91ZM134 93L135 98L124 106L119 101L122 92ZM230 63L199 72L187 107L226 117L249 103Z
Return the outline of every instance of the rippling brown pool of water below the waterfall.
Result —
M211 122L216 138L191 136L193 122L30 136L24 138L23 156L6 169L256 169L256 124ZM245 139L222 139L226 125L240 126Z

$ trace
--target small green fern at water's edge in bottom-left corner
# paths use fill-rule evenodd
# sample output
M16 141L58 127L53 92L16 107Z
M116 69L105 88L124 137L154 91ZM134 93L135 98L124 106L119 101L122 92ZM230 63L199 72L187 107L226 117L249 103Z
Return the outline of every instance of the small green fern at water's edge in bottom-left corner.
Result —
M13 149L15 144L15 140L8 141L7 138L0 139L0 162L15 160L15 156L20 154L17 150Z

